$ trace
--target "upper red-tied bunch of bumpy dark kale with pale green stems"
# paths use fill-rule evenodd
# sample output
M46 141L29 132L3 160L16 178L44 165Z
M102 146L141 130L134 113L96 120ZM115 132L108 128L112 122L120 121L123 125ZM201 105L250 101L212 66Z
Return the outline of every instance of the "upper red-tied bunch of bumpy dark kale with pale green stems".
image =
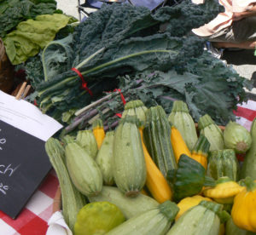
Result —
M215 0L200 5L185 0L154 14L129 4L104 5L73 32L73 54L66 54L73 63L65 63L66 72L61 71L61 63L67 59L63 57L67 50L56 51L52 45L51 53L44 53L46 80L36 85L37 93L32 98L37 97L43 112L60 120L62 112L86 106L102 91L113 89L119 75L133 77L138 72L167 72L171 68L183 72L188 60L203 52L204 41L189 36L189 32L212 20L221 10ZM166 31L160 32L164 24ZM68 45L62 43L61 47ZM54 53L58 60L48 56ZM72 67L84 75L92 97L80 89L80 78L71 71ZM47 76L50 74L55 76Z

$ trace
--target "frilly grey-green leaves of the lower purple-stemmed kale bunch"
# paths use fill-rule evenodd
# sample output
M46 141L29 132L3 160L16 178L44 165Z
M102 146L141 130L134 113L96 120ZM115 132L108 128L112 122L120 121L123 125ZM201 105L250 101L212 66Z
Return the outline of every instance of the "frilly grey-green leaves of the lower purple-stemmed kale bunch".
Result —
M207 52L190 59L185 67L182 74L175 70L145 74L142 88L132 89L131 97L147 106L163 106L166 113L172 111L174 100L183 100L195 122L205 114L220 125L235 120L233 110L247 100L244 88L253 89L253 83Z

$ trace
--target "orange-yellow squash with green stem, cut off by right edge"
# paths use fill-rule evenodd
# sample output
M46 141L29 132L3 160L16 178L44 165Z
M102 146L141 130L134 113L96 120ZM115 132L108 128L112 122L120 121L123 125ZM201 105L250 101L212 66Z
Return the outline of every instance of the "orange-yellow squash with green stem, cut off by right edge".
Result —
M236 226L256 232L256 182L247 177L244 184L234 199L231 216Z

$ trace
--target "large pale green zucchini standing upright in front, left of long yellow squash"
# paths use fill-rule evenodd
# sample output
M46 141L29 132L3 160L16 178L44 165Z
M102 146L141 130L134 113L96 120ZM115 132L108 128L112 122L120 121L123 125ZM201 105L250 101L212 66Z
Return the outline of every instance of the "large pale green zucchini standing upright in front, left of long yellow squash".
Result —
M120 120L113 138L113 178L121 192L135 197L146 182L146 163L136 116Z

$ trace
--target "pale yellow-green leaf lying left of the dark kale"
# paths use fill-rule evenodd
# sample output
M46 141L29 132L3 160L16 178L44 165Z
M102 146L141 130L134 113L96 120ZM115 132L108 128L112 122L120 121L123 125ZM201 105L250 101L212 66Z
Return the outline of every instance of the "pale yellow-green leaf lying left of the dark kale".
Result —
M65 14L42 14L35 20L20 22L15 31L3 38L10 62L18 65L38 54L40 49L54 40L56 32L67 26L68 20Z

